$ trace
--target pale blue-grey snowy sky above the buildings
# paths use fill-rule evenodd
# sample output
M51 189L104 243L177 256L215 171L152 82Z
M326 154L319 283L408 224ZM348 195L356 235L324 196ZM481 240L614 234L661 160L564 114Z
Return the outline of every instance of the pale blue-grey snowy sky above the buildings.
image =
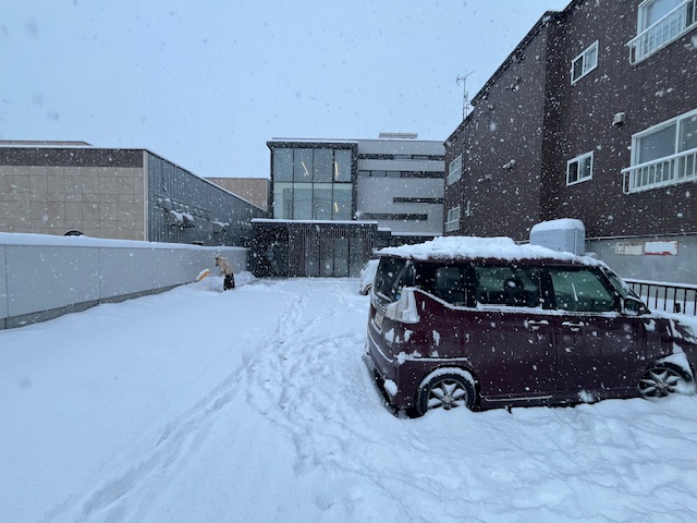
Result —
M269 174L273 137L445 139L568 0L89 0L0 7L0 139L147 148L200 177Z

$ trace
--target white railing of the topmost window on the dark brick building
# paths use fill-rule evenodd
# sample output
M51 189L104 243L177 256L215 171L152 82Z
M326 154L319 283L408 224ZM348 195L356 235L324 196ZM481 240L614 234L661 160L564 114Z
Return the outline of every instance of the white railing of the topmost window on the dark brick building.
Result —
M690 29L697 24L696 11L697 0L686 0L639 33L627 44L629 62L640 62Z

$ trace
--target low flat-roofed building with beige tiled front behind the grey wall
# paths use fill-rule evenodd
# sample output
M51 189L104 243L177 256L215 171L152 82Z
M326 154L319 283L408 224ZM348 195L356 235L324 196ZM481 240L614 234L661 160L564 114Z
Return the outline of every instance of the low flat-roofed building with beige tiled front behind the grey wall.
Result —
M0 231L245 245L259 207L147 149L0 143Z

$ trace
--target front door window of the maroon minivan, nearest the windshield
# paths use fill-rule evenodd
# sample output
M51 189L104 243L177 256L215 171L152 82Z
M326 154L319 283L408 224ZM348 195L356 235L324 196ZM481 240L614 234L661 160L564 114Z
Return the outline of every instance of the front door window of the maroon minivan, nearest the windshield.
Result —
M557 308L570 312L607 313L617 311L616 294L601 275L587 268L549 268Z

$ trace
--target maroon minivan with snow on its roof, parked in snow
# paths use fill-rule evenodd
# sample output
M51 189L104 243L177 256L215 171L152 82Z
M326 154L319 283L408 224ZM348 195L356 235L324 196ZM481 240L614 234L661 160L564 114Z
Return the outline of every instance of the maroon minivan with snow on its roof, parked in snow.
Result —
M389 247L366 361L395 411L694 391L697 339L602 262L508 238Z

